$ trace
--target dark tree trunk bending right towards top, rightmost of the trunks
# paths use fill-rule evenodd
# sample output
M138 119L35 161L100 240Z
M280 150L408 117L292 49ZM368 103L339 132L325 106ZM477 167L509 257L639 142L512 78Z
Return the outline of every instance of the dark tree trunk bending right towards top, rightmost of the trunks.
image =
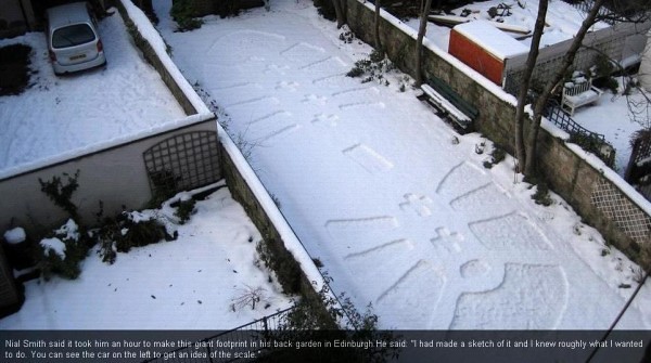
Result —
M576 52L578 52L578 49L580 48L583 40L586 37L586 34L588 33L590 27L595 25L597 15L599 14L599 9L601 9L604 1L605 0L595 0L592 9L590 9L590 12L580 24L580 28L576 33L572 46L570 46L567 53L565 53L561 67L557 69L557 72L553 74L552 79L545 86L542 93L540 93L540 95L536 100L534 106L534 120L532 122L532 127L529 129L529 133L526 140L527 150L524 170L524 173L526 176L533 176L536 172L536 148L538 144L538 133L540 131L540 120L542 119L542 111L545 109L545 106L547 105L547 102L549 101L549 98L551 96L557 85L563 79L565 73L574 63Z

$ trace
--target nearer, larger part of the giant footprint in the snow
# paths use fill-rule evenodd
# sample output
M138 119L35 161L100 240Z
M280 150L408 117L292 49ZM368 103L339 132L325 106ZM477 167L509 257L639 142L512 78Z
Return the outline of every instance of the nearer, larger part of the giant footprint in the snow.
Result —
M356 160L369 169L360 163L367 159ZM468 161L451 167L434 193L405 194L398 207L407 220L378 216L326 225L335 239L354 242L343 256L346 268L373 304L390 312L385 320L419 328L554 328L569 284L545 233ZM441 210L457 224L436 226ZM414 220L431 231L429 244L406 235L411 231L403 224Z

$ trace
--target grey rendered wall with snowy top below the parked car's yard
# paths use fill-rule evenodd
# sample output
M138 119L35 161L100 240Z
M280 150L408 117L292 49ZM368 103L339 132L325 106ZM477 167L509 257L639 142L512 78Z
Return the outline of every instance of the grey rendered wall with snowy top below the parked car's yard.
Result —
M31 232L42 232L64 221L67 215L41 192L39 179L49 181L64 173L74 176L77 170L79 187L72 202L79 207L85 223L95 222L94 215L100 210L100 200L104 205L104 216L114 216L123 210L123 206L141 208L152 198L143 153L177 134L217 132L213 117L189 117L173 126L103 150L1 178L3 208L0 208L0 231L23 226ZM214 147L217 148L217 144ZM62 178L64 184L66 181L67 178Z

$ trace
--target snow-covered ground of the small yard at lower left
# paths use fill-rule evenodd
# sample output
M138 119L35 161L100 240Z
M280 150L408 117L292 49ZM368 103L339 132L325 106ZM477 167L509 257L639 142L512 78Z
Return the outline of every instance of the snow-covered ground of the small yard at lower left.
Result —
M142 215L175 219L169 207ZM0 320L0 329L230 329L290 307L256 265L261 236L227 187L197 202L189 222L171 226L177 241L118 252L114 264L93 250L77 280L26 283L25 304ZM255 310L233 311L238 298L257 288Z

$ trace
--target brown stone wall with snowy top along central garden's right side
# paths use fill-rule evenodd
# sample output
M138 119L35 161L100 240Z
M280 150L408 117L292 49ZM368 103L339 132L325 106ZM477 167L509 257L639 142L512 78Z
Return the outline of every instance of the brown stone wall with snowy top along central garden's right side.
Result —
M373 43L371 4L347 0L347 20L355 35ZM383 11L381 42L392 61L414 76L417 31ZM515 99L478 73L424 42L423 73L436 76L478 108L475 128L513 154ZM553 133L553 134L552 134ZM562 138L561 138L562 137ZM640 245L651 244L651 205L614 171L576 145L553 126L540 131L537 159L552 190L570 203L584 220L597 228L630 258L638 260Z

